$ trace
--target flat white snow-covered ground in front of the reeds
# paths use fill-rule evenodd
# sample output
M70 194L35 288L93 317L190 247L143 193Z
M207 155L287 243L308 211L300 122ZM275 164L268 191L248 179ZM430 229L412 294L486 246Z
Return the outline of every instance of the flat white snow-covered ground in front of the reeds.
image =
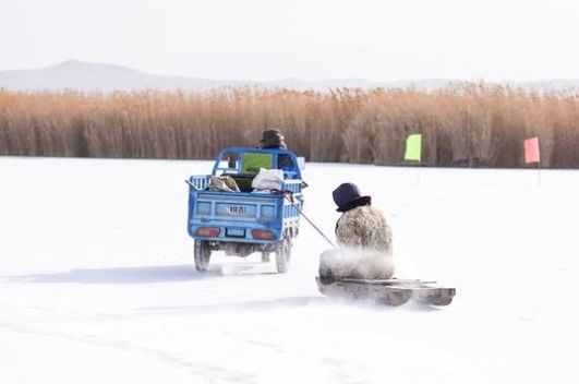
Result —
M579 172L307 164L305 214L333 235L357 182L399 277L446 308L321 296L305 221L286 275L194 271L184 179L207 161L0 158L0 383L577 383Z

